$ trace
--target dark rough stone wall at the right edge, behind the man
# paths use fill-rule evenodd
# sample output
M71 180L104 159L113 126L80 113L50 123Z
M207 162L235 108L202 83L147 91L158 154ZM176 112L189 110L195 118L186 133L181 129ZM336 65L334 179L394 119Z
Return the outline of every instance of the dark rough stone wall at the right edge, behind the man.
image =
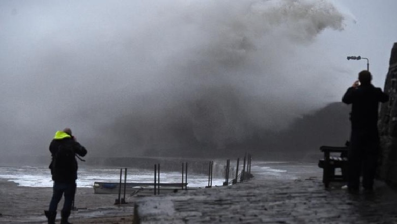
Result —
M391 49L389 71L385 80L389 102L383 103L379 114L381 157L379 177L397 186L397 43Z

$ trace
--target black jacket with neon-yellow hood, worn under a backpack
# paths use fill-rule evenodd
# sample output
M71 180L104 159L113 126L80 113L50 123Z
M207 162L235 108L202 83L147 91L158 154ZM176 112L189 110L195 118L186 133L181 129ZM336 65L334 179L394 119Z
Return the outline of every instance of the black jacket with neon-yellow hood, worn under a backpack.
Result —
M52 180L62 183L74 183L77 179L77 161L73 157L73 160L68 166L54 166L54 159L61 147L69 147L73 152L79 156L85 156L87 154L86 148L76 142L73 136L63 131L57 131L54 138L52 139L49 151L51 152L51 169Z

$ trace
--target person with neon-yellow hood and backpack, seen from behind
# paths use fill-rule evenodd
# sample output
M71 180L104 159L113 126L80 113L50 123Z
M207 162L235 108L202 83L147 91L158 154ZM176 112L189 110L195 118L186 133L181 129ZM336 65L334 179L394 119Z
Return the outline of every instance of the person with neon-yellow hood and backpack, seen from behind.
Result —
M65 201L61 210L61 224L71 224L68 222L68 218L76 192L78 169L75 155L85 156L87 150L76 141L76 138L72 135L72 130L65 128L63 131L56 131L50 143L49 151L52 158L49 168L54 184L48 211L44 211L44 213L48 219L48 224L54 224L58 203L61 201L62 195L64 195Z

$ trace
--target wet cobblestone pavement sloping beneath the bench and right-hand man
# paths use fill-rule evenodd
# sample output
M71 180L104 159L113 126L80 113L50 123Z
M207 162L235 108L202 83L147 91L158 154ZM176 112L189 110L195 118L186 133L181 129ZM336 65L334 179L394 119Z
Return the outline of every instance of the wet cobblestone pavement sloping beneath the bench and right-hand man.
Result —
M138 199L140 223L397 223L397 193L382 182L375 193L325 190L320 177L251 179Z

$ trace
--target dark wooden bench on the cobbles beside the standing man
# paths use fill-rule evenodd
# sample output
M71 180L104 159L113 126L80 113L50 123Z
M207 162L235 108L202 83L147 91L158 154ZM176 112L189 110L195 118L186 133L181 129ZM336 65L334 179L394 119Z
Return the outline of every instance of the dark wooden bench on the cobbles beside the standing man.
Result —
M319 167L323 169L323 183L329 187L331 181L347 181L347 151L348 142L345 147L322 146L320 151L324 158L320 159ZM335 155L338 153L338 155ZM341 174L336 174L336 169L341 169Z

